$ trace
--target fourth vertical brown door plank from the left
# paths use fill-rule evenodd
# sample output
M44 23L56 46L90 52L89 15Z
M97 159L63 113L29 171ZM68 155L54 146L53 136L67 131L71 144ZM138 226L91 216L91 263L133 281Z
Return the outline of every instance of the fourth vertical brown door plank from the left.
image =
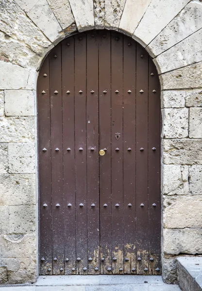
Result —
M87 272L86 35L75 36L76 274Z

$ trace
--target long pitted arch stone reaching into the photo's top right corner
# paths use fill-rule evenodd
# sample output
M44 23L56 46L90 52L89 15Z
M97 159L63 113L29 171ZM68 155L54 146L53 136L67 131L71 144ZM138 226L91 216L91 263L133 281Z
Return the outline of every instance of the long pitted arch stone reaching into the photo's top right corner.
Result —
M202 28L201 16L202 2L190 1L150 43L152 54L159 55Z

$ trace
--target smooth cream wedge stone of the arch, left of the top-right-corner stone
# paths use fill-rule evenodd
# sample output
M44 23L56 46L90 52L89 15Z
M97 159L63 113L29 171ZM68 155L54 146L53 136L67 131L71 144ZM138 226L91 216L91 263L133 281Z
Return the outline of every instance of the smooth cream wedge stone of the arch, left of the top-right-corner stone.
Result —
M133 37L137 37L143 44L148 45L189 1L152 0Z

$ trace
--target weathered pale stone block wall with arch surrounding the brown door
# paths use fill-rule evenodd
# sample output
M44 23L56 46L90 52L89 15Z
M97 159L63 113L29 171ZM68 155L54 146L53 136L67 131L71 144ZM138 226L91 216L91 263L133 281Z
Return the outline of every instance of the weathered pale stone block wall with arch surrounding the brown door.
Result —
M90 29L130 35L159 72L163 277L174 282L176 258L202 254L202 1L0 0L0 19L0 283L38 275L37 70Z

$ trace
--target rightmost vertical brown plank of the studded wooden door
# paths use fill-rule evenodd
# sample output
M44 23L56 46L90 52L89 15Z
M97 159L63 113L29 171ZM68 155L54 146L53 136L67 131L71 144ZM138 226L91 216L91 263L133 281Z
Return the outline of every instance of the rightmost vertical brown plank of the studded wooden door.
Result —
M149 272L161 274L160 85L149 58Z

